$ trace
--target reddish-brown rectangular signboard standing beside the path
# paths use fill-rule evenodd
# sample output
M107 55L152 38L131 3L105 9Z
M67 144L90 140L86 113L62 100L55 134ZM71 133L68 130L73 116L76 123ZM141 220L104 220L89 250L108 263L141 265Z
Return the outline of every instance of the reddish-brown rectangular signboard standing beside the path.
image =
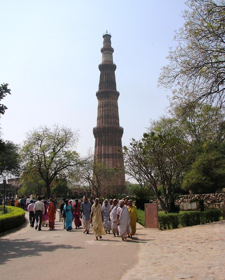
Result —
M145 204L145 228L158 229L158 204Z

